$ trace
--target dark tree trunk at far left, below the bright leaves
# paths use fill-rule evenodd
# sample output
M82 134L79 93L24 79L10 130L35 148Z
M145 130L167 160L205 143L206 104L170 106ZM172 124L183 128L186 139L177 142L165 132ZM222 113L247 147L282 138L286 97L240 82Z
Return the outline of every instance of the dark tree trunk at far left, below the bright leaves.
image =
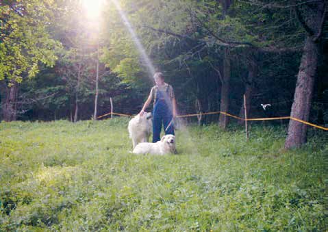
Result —
M2 104L3 120L6 122L11 122L16 120L17 116L17 99L18 94L18 83L13 83L13 85L5 88L5 101Z

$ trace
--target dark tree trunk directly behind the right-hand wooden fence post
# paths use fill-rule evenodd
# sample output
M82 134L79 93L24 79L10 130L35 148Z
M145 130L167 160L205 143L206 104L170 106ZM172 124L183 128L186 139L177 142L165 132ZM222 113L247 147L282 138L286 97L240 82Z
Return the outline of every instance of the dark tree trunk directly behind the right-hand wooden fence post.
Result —
M248 65L248 76L246 79L245 83L245 92L244 95L246 97L246 109L247 109L247 116L250 117L250 108L251 108L251 99L252 99L252 94L253 94L253 89L254 89L254 79L257 76L257 64L255 61L251 61ZM244 112L244 101L242 101L242 106L240 107L240 113L239 113L240 118L245 117L245 112ZM243 120L239 120L238 124L244 125Z

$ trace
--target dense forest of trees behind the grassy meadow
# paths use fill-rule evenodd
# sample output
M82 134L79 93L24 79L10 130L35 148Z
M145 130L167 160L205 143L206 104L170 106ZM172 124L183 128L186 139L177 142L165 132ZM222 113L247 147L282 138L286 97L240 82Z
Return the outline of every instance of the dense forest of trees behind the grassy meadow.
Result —
M1 120L88 120L110 112L110 98L114 112L137 114L153 86L139 38L179 114L244 118L245 95L249 118L328 124L325 1L86 2L0 2ZM290 120L285 146L306 134Z

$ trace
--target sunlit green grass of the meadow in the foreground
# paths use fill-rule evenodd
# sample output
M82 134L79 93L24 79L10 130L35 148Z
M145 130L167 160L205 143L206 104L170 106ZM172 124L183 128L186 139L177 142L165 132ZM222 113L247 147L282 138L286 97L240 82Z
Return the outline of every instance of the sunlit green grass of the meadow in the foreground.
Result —
M125 118L0 123L0 231L325 231L327 134L177 131L179 155L134 155Z

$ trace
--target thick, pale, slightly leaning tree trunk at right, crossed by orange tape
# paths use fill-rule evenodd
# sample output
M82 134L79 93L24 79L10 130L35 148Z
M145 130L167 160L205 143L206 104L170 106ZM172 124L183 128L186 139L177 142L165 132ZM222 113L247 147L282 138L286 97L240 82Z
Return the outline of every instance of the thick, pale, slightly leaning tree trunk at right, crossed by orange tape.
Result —
M313 95L314 80L318 64L318 44L307 37L305 41L299 75L297 77L291 117L308 121ZM290 119L285 148L299 147L306 142L307 125Z

